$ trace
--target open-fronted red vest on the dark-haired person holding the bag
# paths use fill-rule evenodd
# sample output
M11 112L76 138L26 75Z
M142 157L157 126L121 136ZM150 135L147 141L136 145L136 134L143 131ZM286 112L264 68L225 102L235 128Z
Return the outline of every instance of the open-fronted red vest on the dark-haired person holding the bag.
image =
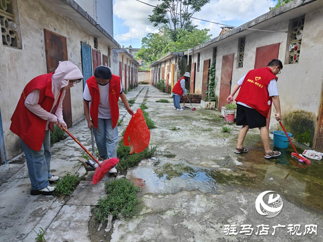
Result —
M93 121L94 127L97 129L97 120L98 120L98 112L99 112L99 103L100 103L100 92L98 88L98 84L95 80L95 77L90 77L87 81L87 86L89 88L92 100L91 100L91 108L90 108L90 115ZM120 77L116 75L112 75L109 84L109 102L111 108L111 119L112 119L112 126L115 128L118 123L119 119L119 106L118 101L120 97Z

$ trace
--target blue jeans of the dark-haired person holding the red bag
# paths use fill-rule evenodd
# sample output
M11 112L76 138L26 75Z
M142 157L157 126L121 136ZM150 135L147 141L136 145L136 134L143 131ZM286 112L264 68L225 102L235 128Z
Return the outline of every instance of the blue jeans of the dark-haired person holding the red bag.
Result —
M112 128L112 119L98 118L93 134L100 157L103 160L117 158L118 126Z

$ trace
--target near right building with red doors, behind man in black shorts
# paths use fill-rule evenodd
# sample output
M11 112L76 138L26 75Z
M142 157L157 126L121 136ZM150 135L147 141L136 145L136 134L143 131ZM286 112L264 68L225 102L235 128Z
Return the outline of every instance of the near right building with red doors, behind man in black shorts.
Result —
M281 59L282 120L298 141L323 151L322 56L323 1L294 0L190 50L191 73L195 73L191 84L195 93L203 93L209 66L216 63L215 92L221 110L233 86L249 70ZM274 114L267 119L271 131L278 129Z

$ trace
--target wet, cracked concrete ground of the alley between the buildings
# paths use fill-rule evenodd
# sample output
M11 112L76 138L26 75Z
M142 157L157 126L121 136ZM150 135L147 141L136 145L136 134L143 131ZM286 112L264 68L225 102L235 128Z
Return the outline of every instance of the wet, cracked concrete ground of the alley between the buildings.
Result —
M115 220L109 234L98 232L98 225L93 228L91 207L104 196L104 183L91 185L93 172L86 173L77 160L82 149L67 138L52 146L51 169L61 176L65 171L84 175L70 198L30 196L24 156L0 166L1 241L34 241L33 229L39 227L48 232L46 241L323 241L321 162L305 167L291 158L290 148L279 159L265 160L258 130L246 137L249 153L236 155L239 127L231 125L230 134L222 133L220 112L198 104L193 104L196 111L176 111L168 94L148 85L139 85L127 98L136 100L134 110L145 102L157 127L150 141L158 145L156 159L143 160L126 174L141 188L135 216ZM170 103L155 102L160 98ZM120 113L125 117L121 138L130 115L122 104ZM86 121L70 132L91 147ZM255 201L264 191L282 198L283 209L274 218L256 211ZM250 236L240 233L246 224L252 225ZM299 230L288 228L297 224ZM309 224L317 225L317 235L304 234ZM233 234L226 235L226 225L232 225ZM285 227L273 235L277 225Z

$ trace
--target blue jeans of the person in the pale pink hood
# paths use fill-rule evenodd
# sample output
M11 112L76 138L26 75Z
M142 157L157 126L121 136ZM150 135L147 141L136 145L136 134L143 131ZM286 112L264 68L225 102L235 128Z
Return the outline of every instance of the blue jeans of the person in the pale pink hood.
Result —
M24 150L29 178L32 190L41 190L49 186L48 177L50 174L50 131L45 131L45 137L40 151L30 149L22 140L22 149Z

